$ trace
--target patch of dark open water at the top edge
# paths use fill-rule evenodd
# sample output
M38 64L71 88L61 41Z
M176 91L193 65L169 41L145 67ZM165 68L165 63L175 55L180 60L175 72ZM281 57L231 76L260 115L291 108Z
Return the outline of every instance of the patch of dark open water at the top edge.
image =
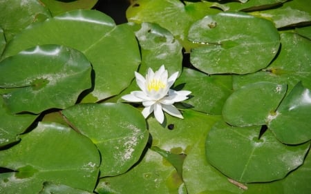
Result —
M94 9L108 14L115 23L126 23L126 9L130 6L130 0L98 0Z

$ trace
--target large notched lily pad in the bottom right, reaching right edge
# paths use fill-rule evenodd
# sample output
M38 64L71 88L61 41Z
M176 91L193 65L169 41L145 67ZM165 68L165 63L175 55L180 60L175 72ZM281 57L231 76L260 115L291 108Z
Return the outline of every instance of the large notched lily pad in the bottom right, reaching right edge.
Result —
M206 139L208 161L238 182L281 180L303 164L310 142L287 146L270 130L258 139L260 130L260 126L232 127L218 122Z

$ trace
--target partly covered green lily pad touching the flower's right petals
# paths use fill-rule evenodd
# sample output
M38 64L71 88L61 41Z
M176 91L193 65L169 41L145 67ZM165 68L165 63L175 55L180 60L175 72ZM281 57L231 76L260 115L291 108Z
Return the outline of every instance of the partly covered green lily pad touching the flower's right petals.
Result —
M175 87L191 91L191 97L184 102L192 106L192 109L212 115L221 115L223 104L232 93L232 76L209 76L184 68L175 82Z

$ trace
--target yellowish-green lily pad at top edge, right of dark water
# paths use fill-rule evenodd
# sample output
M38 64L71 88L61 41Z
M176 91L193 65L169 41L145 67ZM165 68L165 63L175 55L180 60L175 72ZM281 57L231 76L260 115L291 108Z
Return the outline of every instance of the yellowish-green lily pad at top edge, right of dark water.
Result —
M158 23L183 42L187 40L187 31L191 23L206 14L219 12L209 8L212 4L206 1L191 3L178 0L138 0L133 1L126 10L126 18L135 23Z

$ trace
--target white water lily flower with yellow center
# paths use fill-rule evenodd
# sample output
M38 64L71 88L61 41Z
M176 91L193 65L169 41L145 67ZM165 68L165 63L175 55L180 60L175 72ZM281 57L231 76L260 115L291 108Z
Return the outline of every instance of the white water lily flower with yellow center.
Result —
M162 110L169 113L169 115L183 119L182 114L173 104L188 99L187 95L191 92L170 89L178 77L178 72L173 73L168 78L168 72L162 65L156 72L149 68L146 79L138 72L135 72L135 77L141 91L133 91L129 95L124 95L122 99L131 102L142 102L145 107L142 110L142 115L147 118L154 112L154 116L160 124L164 122Z

